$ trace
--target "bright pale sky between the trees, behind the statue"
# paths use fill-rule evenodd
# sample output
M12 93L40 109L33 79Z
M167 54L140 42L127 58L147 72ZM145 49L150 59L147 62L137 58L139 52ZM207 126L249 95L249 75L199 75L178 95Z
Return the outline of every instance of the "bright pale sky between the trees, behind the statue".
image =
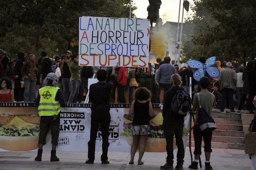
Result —
M179 4L180 0L161 0L162 4L159 9L159 16L162 18L163 23L166 23L166 21L172 21L172 22L178 22L178 15L179 15ZM193 3L193 0L188 0L191 4ZM135 15L138 18L147 18L148 17L148 11L147 6L149 5L148 0L133 0L133 3L135 6L137 6L137 10L134 11ZM182 6L183 0L181 0L181 6ZM181 22L181 15L182 15L182 8L180 8L180 22ZM189 9L189 12L187 13L186 10L184 10L184 20L186 19L187 14L191 14L191 9ZM184 22L183 20L183 22Z

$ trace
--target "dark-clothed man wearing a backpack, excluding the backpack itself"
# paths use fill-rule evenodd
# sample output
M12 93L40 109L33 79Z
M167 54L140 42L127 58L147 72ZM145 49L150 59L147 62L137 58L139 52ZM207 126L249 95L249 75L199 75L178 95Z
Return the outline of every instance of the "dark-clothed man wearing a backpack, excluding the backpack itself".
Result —
M184 162L184 145L183 145L183 126L184 126L184 116L177 113L173 113L172 109L172 98L175 96L176 91L184 91L181 87L182 81L179 74L172 74L171 82L172 88L170 88L164 97L163 101L163 133L166 138L166 164L160 166L162 170L173 170L173 137L175 135L177 151L177 165L175 170L183 170Z

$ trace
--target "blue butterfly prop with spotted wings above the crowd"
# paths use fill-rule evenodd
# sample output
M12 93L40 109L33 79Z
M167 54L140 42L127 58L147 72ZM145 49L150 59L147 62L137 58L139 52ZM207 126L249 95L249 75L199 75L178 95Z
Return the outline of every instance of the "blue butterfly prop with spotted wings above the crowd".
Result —
M216 57L213 56L213 57L209 57L206 60L205 64L197 60L188 60L186 63L189 65L190 68L198 68L194 72L193 78L199 82L199 80L202 77L204 77L206 72L212 78L219 77L220 75L219 69L215 66L212 66L215 64L215 60L216 60Z

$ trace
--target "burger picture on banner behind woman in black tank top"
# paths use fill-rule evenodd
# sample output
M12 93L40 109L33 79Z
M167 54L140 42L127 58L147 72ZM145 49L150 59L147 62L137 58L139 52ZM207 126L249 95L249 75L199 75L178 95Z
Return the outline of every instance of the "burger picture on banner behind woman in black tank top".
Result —
M163 115L160 109L154 109L153 119L149 120L149 125L151 128L151 134L148 135L146 142L145 151L146 152L166 152L166 139L163 134ZM132 127L132 117L129 119L123 116L124 121L124 131L121 136L126 137L126 142L131 146L133 142L131 127ZM188 135L188 130L186 127L183 128L183 137ZM174 136L175 138L175 136ZM176 140L173 140L173 149L176 149Z

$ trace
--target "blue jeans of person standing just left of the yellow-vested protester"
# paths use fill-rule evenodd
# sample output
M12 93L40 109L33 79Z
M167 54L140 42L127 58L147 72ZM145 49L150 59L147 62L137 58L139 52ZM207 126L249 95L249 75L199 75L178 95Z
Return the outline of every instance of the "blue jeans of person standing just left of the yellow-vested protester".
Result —
M34 102L36 80L25 79L24 102Z

